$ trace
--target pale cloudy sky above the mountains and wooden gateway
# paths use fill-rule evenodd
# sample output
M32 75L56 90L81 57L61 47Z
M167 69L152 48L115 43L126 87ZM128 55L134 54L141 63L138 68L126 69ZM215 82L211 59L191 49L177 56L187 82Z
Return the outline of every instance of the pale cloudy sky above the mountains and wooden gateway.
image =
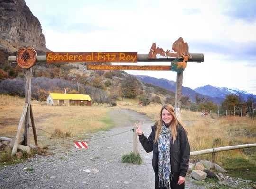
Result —
M204 62L188 62L183 86L256 95L256 0L25 0L53 52L167 49L179 37ZM139 63L135 63L140 65ZM170 65L170 63L144 63ZM173 71L127 71L176 81Z

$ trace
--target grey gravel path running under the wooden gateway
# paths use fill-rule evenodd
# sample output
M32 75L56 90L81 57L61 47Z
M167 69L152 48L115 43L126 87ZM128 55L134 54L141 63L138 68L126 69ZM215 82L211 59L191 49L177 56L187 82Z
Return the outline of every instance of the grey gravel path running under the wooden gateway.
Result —
M53 144L54 155L35 155L24 163L1 169L0 189L154 189L152 154L146 153L140 143L143 163L121 162L122 155L133 150L132 122L141 121L147 136L153 123L145 115L126 109L112 109L110 116L116 126L90 134L88 149L76 149L73 142L63 141ZM186 189L212 187L194 185L192 180L188 175Z

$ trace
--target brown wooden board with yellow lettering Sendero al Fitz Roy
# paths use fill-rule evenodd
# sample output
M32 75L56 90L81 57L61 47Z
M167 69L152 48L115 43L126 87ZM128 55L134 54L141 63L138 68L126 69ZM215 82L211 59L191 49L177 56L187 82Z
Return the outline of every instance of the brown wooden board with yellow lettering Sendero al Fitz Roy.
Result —
M137 52L46 52L46 62L137 62Z

